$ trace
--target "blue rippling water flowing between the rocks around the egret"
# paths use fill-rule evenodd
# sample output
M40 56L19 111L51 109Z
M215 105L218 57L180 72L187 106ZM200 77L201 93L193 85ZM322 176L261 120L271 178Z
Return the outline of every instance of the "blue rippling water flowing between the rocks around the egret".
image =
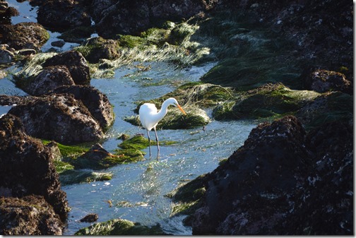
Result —
M20 11L20 16L12 18L13 24L37 21L37 9L32 8L27 1L20 4L9 0L8 3ZM51 42L58 40L59 33L50 32L50 35L51 39L42 47L44 52L52 47ZM60 50L65 51L75 45L66 43ZM124 117L134 114L135 102L160 97L179 85L198 81L215 64L178 70L162 62L143 65L150 65L150 70L140 71L138 67L125 66L115 71L114 78L91 80L91 85L105 93L114 105L116 119L112 128L107 131L105 142L102 143L110 152L121 143L118 138L122 133L129 136L143 133L146 136L146 130L124 121ZM26 95L15 87L11 76L0 79L0 94ZM0 106L0 117L10 108ZM210 109L206 110L210 116ZM74 234L82 227L88 227L90 223L79 222L88 213L97 213L98 222L123 218L148 226L159 223L163 230L170 234L191 234L191 228L182 225L184 216L170 217L172 201L165 195L179 184L213 171L220 160L232 155L244 143L254 126L254 121L213 120L205 130L159 130L160 141L177 141L173 145L161 145L159 160L154 158L157 148L153 146L153 159L146 155L144 161L102 170L114 174L110 181L62 186L71 206L64 234ZM144 151L148 153L148 148ZM112 206L109 206L107 201L111 201Z

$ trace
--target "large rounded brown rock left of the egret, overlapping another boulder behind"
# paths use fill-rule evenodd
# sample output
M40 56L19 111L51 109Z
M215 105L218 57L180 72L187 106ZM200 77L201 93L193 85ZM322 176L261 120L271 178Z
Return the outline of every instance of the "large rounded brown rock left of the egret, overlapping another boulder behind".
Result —
M97 141L104 136L100 124L73 95L37 97L8 113L19 117L26 133L37 138L75 144Z

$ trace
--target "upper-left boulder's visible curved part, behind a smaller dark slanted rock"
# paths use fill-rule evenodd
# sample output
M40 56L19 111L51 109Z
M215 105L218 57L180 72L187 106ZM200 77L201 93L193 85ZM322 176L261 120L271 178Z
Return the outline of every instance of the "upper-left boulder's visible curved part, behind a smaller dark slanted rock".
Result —
M60 65L69 69L76 84L88 85L90 83L89 66L81 53L74 50L63 52L47 59L43 64L45 67Z

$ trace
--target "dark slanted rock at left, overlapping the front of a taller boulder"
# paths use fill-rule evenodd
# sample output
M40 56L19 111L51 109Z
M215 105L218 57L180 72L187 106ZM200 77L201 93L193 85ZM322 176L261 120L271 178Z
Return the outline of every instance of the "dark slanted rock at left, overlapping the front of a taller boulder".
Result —
M74 85L66 66L48 66L30 81L23 90L30 95L43 95L63 85Z

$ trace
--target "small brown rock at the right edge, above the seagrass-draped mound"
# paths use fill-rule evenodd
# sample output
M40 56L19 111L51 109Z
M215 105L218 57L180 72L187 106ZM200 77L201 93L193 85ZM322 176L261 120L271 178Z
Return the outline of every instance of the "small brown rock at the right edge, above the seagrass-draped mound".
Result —
M352 85L343 73L318 69L304 79L304 84L310 90L325 93L331 90L339 90L352 94Z

